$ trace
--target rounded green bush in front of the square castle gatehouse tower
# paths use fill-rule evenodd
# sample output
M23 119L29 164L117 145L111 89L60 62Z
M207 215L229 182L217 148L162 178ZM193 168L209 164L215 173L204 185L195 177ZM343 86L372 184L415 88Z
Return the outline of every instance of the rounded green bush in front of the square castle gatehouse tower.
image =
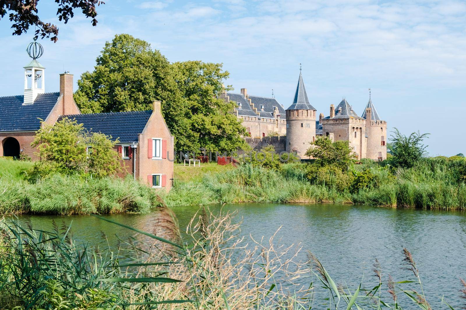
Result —
M342 171L347 171L356 159L356 154L349 148L349 141L332 142L326 137L312 142L305 155L315 158L316 165L333 165Z

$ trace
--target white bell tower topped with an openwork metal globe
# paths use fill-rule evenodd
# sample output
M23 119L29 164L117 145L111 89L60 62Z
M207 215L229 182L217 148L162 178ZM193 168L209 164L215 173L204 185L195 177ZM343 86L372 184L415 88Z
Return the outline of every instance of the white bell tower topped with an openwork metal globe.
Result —
M38 94L45 93L45 68L37 61L42 56L43 48L35 40L37 38L26 49L32 61L24 67L23 105L33 104Z

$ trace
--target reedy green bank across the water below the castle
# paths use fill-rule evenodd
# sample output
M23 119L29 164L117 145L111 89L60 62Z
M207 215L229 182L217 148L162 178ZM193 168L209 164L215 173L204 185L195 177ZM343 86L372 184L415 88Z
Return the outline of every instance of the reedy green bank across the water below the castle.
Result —
M391 170L373 161L356 165L351 185L334 171L318 171L311 181L307 164L285 164L279 170L241 165L206 173L165 195L169 205L213 203L354 203L464 210L464 159L426 158L410 169ZM195 170L196 168L190 168Z

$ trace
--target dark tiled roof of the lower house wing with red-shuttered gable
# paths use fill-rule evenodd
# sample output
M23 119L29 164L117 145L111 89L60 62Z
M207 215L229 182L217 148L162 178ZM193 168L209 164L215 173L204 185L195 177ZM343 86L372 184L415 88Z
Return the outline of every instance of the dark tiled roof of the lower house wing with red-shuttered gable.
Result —
M151 110L73 114L62 115L58 120L65 117L75 119L78 124L83 124L84 128L89 130L89 132L101 132L107 136L111 136L113 140L120 140L120 143L130 143L137 142L137 134L143 131L151 114Z

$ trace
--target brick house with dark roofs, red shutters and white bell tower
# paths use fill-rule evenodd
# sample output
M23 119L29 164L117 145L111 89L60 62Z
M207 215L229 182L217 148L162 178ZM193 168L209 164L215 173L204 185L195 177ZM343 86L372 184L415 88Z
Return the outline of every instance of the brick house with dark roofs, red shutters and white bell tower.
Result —
M171 189L174 140L160 101L154 101L150 111L81 114L73 99L73 75L60 74L60 92L46 93L45 68L37 62L40 55L29 55L33 61L24 67L24 94L0 97L1 156L19 158L22 153L37 160L31 143L41 120L55 124L66 117L89 132L118 139L115 150L121 156L120 177L131 174L152 187Z

